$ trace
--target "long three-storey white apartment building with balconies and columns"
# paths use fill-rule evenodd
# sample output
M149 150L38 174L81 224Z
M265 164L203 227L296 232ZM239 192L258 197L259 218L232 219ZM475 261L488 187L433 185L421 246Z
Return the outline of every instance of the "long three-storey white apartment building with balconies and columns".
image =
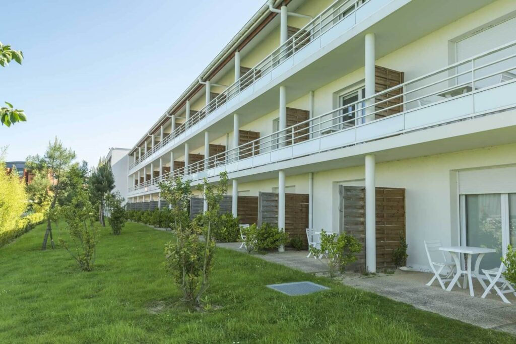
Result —
M515 108L514 0L270 1L136 141L127 198L227 171L235 215L275 193L285 228L288 194L307 194L307 227L362 230L370 271L379 211L399 215L409 266L439 239L496 247L497 267L516 241Z

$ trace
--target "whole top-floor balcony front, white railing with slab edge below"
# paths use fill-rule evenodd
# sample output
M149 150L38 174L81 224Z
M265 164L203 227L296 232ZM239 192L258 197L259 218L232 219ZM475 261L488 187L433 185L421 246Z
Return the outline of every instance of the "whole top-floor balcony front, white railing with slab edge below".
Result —
M156 153L167 151L182 139L197 133L206 124L226 116L227 110L267 87L272 80L285 74L315 52L324 49L344 32L392 1L394 0L335 1L204 108L176 127L163 141L132 163L129 166L130 173L134 173L142 163L148 163L151 157L155 158Z

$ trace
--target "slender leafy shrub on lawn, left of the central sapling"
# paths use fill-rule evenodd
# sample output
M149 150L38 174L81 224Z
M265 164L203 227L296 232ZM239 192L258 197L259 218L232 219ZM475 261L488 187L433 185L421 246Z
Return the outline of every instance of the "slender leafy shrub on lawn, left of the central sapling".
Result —
M72 238L74 248L59 239L59 242L77 261L84 271L91 271L95 262L97 227L93 223L93 207L85 191L78 192L69 204L62 206L60 215L66 223L66 230Z

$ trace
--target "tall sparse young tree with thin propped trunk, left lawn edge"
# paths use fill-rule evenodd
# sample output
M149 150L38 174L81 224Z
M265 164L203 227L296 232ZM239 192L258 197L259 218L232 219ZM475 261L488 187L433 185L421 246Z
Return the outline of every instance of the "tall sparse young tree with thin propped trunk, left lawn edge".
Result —
M38 186L35 185L30 193L40 202L49 202L50 207L46 211L46 231L43 237L41 249L46 250L46 243L50 236L52 248L55 248L54 238L52 237L52 220L55 219L58 200L63 196L67 173L70 171L72 161L75 159L75 152L65 148L61 141L55 138L54 142L49 142L49 146L43 156L35 155L27 157L27 166L36 173L39 179ZM43 178L50 179L48 183L42 181Z

